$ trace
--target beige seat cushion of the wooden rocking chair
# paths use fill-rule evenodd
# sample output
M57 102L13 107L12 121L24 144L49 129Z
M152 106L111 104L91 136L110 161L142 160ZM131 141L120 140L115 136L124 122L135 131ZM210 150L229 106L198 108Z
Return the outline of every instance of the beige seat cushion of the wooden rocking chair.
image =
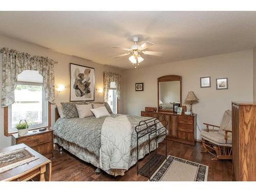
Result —
M219 132L201 132L201 136L208 141L214 141L220 144L226 144L225 136L220 134ZM227 144L232 144L232 137L227 137Z

